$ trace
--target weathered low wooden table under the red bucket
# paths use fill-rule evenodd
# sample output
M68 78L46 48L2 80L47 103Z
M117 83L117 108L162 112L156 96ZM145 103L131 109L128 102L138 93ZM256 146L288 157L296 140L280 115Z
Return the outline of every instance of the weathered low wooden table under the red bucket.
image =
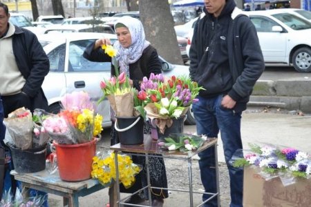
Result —
M15 170L12 170L10 173L14 175L16 180L21 181L22 188L25 188L25 192L28 192L28 189L32 188L62 196L64 206L68 205L69 207L78 207L79 197L90 195L91 193L95 193L98 190L110 186L110 184L102 186L102 184L95 179L77 182L62 181L57 172L50 175L47 170L23 174L19 174ZM28 195L23 196L28 197Z

